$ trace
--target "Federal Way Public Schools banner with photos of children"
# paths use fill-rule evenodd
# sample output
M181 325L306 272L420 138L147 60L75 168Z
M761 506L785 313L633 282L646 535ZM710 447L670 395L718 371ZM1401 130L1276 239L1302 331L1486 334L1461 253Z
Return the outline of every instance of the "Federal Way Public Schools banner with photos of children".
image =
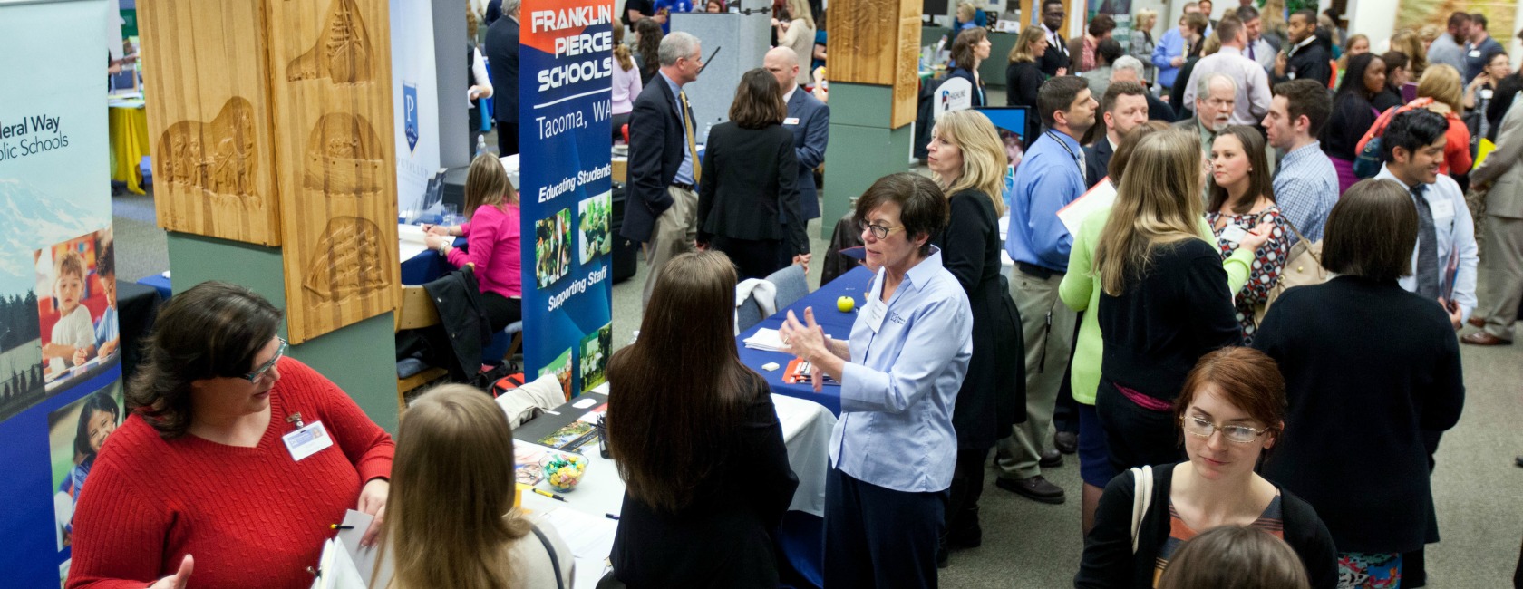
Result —
M69 574L75 501L123 417L101 59L119 21L107 0L0 3L5 586Z

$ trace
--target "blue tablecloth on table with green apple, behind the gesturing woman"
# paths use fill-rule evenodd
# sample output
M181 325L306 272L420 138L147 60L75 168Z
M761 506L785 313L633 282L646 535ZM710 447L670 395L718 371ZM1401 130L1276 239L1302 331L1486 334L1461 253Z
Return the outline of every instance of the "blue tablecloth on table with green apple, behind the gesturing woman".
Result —
M736 345L740 347L740 362L755 370L758 374L766 377L768 385L772 385L772 393L786 394L789 397L809 399L819 405L824 405L830 412L841 415L841 388L825 385L824 391L815 393L815 388L804 384L787 384L783 382L783 368L787 362L793 359L792 355L781 352L765 352L752 350L745 344L745 338L754 335L758 329L778 329L783 326L783 320L787 318L787 310L798 315L798 320L804 320L804 307L815 307L815 323L825 329L832 338L847 339L851 336L851 324L856 323L856 310L842 314L836 310L836 298L851 297L856 298L856 307L862 307L862 297L867 294L868 282L873 280L873 274L867 268L857 266L851 271L842 274L836 280L819 286L818 291L810 292L804 298L800 298L787 309L778 310L777 315L762 320L762 323L752 326L751 329L740 332L736 338ZM778 370L762 370L763 364L777 362Z

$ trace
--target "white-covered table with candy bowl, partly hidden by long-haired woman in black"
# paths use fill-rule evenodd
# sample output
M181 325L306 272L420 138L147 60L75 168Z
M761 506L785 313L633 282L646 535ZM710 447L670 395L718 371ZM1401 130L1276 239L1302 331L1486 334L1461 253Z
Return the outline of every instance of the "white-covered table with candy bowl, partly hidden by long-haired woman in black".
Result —
M554 414L545 412L524 423L513 431L516 443L533 443L532 440L539 440L562 425L577 420L582 414L600 406L608 399L606 393L608 385L605 384L594 388L592 393L556 408ZM586 403L583 399L592 399L592 402ZM579 403L585 406L577 406ZM777 408L777 419L783 426L783 444L787 447L789 466L798 475L798 490L793 492L793 502L789 505L787 516L784 516L787 521L784 521L780 537L783 557L795 563L795 568L801 562L812 562L818 568L824 551L822 528L818 522L824 516L830 431L836 425L836 417L819 403L801 399L774 394L772 403ZM557 521L554 517L556 510L570 508L591 516L582 517L582 522L606 522L603 525L612 530L617 524L609 521L606 514L617 516L623 510L624 482L618 478L618 469L614 466L614 461L599 455L595 443L583 446L582 451L588 460L586 475L583 475L582 484L574 492L564 495L565 502L535 493L524 493L522 505L532 511L544 513L553 524ZM550 486L541 482L538 489L550 490ZM797 525L798 521L804 524ZM809 522L815 522L815 525L812 527ZM588 536L595 536L595 531L589 533L588 530L560 530L557 527L556 531L567 537L567 543L573 546L573 551L576 551L580 540L591 542ZM609 536L606 542L612 545L612 537ZM603 563L595 560L583 562L579 554L576 586L594 586L595 580L603 575ZM810 572L803 569L800 572L804 572L806 577L810 575ZM815 572L813 580L818 584L818 571Z

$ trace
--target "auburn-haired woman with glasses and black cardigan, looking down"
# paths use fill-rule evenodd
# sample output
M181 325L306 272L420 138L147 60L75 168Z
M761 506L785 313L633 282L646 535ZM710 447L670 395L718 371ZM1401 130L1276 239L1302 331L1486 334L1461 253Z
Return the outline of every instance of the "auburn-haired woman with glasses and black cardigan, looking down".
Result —
M1317 511L1253 472L1285 432L1285 380L1275 361L1246 347L1211 352L1185 377L1171 412L1189 460L1110 479L1074 587L1153 587L1185 542L1218 525L1285 540L1311 587L1339 586L1337 549ZM1138 476L1150 476L1141 499Z

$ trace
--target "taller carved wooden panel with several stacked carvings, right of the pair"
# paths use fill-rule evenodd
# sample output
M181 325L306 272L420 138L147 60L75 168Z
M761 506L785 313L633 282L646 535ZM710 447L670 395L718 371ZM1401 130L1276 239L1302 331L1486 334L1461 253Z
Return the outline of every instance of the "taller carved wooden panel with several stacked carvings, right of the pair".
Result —
M306 341L396 306L385 0L271 0L286 323Z

